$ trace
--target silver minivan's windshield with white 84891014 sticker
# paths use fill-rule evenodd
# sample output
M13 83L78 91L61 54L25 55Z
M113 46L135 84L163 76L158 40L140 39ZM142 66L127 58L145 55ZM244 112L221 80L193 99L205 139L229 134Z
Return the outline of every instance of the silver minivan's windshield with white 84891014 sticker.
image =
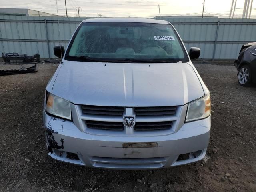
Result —
M98 62L188 62L170 24L83 23L68 47L66 60Z

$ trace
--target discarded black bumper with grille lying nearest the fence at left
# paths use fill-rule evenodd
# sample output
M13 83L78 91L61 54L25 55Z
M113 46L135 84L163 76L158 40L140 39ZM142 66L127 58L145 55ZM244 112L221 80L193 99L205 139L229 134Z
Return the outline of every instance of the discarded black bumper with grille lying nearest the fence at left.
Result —
M8 65L22 65L40 62L39 54L28 56L27 54L20 53L2 53L2 58L4 59L5 64Z

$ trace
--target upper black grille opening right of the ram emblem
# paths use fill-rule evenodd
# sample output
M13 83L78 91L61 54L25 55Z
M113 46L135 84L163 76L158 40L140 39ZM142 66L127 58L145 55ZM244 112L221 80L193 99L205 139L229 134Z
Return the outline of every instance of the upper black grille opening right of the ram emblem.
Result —
M165 107L136 107L136 116L170 116L176 114L176 106Z

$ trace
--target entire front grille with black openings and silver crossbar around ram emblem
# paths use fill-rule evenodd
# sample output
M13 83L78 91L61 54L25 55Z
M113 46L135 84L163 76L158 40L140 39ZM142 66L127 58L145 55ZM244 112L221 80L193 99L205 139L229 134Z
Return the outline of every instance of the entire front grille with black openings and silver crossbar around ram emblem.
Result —
M134 107L132 114L135 116L134 131L171 130L177 120L177 106L160 107ZM115 130L125 129L124 116L131 114L127 107L116 106L92 106L82 105L81 118L88 128L94 130ZM129 111L130 114L126 114Z

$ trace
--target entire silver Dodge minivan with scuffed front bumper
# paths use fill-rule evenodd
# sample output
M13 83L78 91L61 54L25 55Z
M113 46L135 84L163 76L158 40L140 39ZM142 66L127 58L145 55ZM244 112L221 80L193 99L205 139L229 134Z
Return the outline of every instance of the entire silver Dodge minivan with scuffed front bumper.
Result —
M112 169L168 168L204 158L210 93L167 21L81 22L46 86L49 156Z

